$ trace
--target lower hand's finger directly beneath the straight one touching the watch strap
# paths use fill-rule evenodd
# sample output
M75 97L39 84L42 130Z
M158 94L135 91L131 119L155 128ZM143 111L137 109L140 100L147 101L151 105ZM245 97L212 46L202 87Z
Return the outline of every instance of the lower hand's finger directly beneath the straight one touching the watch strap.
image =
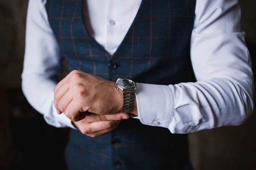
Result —
M118 120L105 121L105 122L92 122L88 124L83 130L82 133L89 135L92 133L96 133L98 131L107 130L113 127L116 127L119 124Z

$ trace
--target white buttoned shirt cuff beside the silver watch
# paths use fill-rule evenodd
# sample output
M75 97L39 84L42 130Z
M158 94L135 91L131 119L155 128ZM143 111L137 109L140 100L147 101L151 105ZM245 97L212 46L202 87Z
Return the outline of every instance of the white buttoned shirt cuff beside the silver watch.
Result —
M138 116L144 125L168 128L174 114L174 95L167 85L137 83Z

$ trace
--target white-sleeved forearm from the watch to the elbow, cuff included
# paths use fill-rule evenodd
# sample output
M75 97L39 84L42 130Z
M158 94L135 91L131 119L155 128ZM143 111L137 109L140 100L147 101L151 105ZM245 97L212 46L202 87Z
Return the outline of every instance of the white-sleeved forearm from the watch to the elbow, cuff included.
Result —
M244 84L226 78L169 86L137 84L139 119L172 133L239 125L253 110L252 82L247 80Z

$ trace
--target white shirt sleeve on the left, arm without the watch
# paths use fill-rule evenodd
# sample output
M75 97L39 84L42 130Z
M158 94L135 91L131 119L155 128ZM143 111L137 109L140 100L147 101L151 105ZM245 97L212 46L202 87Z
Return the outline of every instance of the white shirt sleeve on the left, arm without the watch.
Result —
M47 19L46 0L29 0L22 91L29 104L55 127L75 128L64 114L58 115L53 105L55 81L61 73L58 43Z

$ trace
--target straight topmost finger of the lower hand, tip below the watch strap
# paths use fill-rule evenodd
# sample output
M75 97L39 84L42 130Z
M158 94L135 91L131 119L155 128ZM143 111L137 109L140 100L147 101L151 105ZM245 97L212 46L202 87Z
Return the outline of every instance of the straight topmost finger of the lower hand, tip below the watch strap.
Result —
M128 113L116 113L111 115L98 115L95 113L86 113L86 121L91 122L102 122L102 121L109 121L109 120L123 120L129 119Z

